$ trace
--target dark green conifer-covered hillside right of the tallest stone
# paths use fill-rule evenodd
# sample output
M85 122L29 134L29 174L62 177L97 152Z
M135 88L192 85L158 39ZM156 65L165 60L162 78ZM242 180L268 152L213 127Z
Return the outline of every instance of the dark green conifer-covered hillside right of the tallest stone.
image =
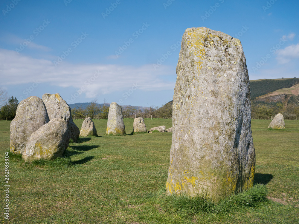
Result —
M299 78L260 79L250 81L251 100L277 89L289 88L299 83Z

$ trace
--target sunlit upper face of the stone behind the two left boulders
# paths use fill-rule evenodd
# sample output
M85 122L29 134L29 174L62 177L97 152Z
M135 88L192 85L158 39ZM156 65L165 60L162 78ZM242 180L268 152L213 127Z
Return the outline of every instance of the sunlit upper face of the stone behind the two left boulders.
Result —
M67 123L70 121L71 108L58 93L51 95L45 103L45 106L47 108L50 121L54 118L61 118Z

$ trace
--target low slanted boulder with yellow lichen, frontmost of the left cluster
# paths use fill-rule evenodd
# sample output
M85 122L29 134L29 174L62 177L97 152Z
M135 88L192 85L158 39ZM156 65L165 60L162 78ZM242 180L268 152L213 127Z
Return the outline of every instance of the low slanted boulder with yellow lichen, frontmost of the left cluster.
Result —
M61 118L53 118L33 132L23 153L25 161L54 160L61 157L70 140L68 124Z

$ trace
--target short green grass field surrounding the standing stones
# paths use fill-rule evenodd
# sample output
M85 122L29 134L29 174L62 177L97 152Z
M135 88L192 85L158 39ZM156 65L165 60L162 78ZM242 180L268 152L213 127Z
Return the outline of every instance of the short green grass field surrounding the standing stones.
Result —
M83 120L75 120L81 128ZM109 136L107 120L94 120L98 137L70 143L64 159L24 163L10 154L10 220L0 223L299 223L299 121L286 130L268 130L269 120L253 120L255 183L266 185L272 200L228 212L182 216L158 201L165 187L172 133ZM145 119L147 129L172 126L171 119ZM9 149L10 121L0 121L1 183ZM2 188L4 189L4 184ZM274 202L276 200L278 202Z

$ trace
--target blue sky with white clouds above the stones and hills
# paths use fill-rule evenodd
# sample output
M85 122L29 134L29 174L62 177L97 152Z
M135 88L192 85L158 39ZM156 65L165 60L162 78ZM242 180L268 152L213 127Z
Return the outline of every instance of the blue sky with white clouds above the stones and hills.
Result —
M299 77L299 1L2 0L0 86L19 101L161 106L181 37L208 27L241 40L249 78ZM168 54L167 54L168 52Z

